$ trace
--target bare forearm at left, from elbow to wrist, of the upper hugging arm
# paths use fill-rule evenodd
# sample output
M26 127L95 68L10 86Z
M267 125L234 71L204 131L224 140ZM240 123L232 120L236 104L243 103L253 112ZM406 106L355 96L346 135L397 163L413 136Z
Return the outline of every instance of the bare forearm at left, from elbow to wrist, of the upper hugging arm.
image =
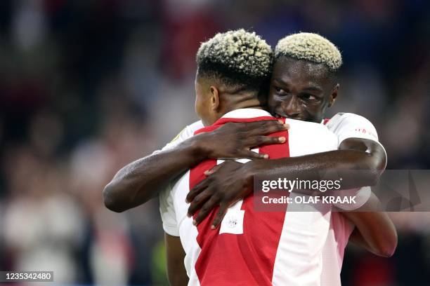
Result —
M191 138L175 149L129 163L105 186L105 205L115 212L141 205L157 196L172 179L203 159L202 150Z

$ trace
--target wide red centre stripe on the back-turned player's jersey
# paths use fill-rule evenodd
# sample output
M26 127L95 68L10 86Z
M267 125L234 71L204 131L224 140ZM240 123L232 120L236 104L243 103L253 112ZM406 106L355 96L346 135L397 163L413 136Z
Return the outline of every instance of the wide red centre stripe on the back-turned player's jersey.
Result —
M221 119L221 122L215 123L216 126L203 128L195 134L214 130L230 122L230 119L235 122L261 120L261 118ZM263 120L276 120L276 118L265 116ZM285 136L287 140L285 144L261 147L260 152L268 154L273 159L288 157L288 132L276 132L270 136ZM214 165L216 165L215 160L208 160L191 169L190 189L204 178L203 172ZM242 234L219 234L219 229L211 229L211 222L219 207L212 210L209 216L197 226L197 243L200 245L201 252L195 264L195 271L201 285L272 285L273 266L285 211L256 212L253 196L253 194L247 196L242 202L241 209L245 210Z

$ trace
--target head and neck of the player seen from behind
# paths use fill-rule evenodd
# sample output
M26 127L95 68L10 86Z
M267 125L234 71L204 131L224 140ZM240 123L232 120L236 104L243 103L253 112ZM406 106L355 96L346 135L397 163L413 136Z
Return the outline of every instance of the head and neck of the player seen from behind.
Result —
M195 110L204 125L237 108L266 105L271 47L244 29L216 34L197 52Z

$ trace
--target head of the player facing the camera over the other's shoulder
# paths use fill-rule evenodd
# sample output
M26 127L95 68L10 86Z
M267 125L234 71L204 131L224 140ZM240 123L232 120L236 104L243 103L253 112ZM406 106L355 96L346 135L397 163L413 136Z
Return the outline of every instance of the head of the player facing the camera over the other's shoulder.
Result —
M336 100L341 53L323 36L286 36L275 48L269 109L277 116L320 122Z

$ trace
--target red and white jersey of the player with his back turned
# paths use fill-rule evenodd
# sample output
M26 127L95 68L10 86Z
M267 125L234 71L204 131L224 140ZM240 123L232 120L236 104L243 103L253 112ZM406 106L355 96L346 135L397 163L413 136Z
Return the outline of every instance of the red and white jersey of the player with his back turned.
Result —
M214 130L230 121L273 119L261 109L237 109L197 132ZM285 136L285 144L256 151L282 158L337 149L337 137L325 125L291 119L286 122L289 130L273 134ZM230 207L219 230L210 228L217 210L193 226L193 219L186 216L185 196L204 179L205 170L221 162L200 163L171 191L160 194L164 231L181 238L190 285L320 285L330 205L315 205L313 212L288 212L288 207L285 212L256 212L251 195Z

